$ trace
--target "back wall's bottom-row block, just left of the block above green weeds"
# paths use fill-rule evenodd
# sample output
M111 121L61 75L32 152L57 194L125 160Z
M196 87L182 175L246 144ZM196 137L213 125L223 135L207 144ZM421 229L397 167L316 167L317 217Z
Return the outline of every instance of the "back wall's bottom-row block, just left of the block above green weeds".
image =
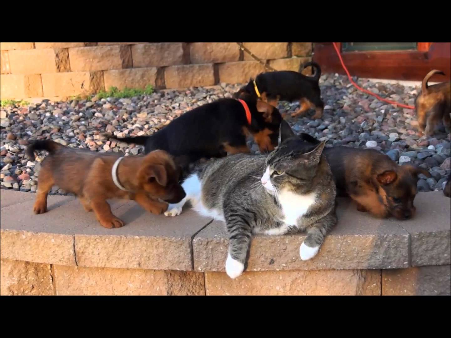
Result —
M42 74L42 88L48 97L94 94L105 86L102 72L68 72Z

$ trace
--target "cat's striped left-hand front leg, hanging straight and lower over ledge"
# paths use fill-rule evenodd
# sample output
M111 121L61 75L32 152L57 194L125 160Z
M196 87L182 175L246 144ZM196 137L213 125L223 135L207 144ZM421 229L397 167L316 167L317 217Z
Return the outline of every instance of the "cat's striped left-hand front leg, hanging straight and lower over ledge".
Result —
M226 215L227 231L230 234L229 254L226 260L226 273L237 278L244 271L246 256L252 237L249 222L242 215Z

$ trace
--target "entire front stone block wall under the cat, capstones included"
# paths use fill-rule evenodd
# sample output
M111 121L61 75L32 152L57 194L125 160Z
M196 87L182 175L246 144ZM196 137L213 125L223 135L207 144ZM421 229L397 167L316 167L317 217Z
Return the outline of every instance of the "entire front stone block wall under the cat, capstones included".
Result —
M450 295L450 203L420 192L414 219L374 219L338 200L339 223L318 255L299 259L305 234L255 236L248 267L225 272L224 224L187 209L152 215L110 201L125 226L106 229L74 196L0 189L0 295ZM61 224L64 219L64 224Z

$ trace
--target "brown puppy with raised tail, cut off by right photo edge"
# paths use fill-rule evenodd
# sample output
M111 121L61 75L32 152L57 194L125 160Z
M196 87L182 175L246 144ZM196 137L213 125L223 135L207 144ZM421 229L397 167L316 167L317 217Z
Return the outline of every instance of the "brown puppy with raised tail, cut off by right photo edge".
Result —
M428 86L428 80L434 74L445 75L439 70L431 70L423 79L421 92L415 99L419 128L431 136L440 120L448 129L451 128L451 81Z

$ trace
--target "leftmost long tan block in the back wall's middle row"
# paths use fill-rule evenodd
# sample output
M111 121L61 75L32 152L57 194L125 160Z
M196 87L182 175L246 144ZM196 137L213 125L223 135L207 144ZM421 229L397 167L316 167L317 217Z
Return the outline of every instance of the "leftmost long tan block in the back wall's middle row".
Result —
M68 72L67 49L9 50L12 74L42 74Z

